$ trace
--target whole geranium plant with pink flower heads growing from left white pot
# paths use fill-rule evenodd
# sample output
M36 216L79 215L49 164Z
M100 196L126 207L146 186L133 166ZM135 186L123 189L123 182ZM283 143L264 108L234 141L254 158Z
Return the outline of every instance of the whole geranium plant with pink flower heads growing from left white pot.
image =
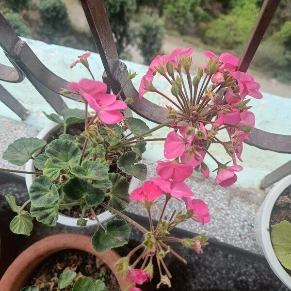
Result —
M33 217L54 226L59 210L78 206L81 209L79 226L86 225L86 211L89 210L95 218L98 227L92 244L97 252L102 253L129 241L130 223L144 233L145 240L127 257L116 262L121 275L133 281L127 290L139 291L141 289L135 284L142 285L151 280L153 260L157 262L161 277L157 288L161 284L171 286L172 275L164 262L165 256L172 253L181 261L185 260L167 243L182 243L198 254L207 244L205 235L191 239L170 235L171 230L185 220L194 219L201 224L210 221L208 206L201 199L193 198L194 193L185 179L199 165L202 174L208 178L210 170L203 161L205 155L209 155L217 163L215 184L228 187L236 182L235 172L242 171L242 166L237 164L237 159L241 161L242 142L255 125L254 114L247 106L249 99L245 97L262 97L259 84L250 75L237 71L239 60L230 53L218 57L206 51L207 64L199 67L197 75L192 78L192 52L192 48L179 48L169 55L159 55L143 76L140 98L146 92L155 92L171 103L167 106L165 122L152 129L139 119L122 115L120 110L126 109L127 103L133 100L129 97L125 102L117 100L119 94L106 93L106 84L88 79L69 83L64 92L76 94L84 102L84 126L80 134L59 132L62 134L48 143L37 138L20 139L4 153L5 159L16 164L20 164L19 160L24 164L32 159L38 169L26 173L35 174L37 178L32 181L30 199L24 205L16 206L15 199L7 196L17 214L11 222L12 231L29 235ZM92 75L88 56L88 52L81 55L72 67L81 63ZM161 74L169 82L173 96L169 97L155 87L153 80L156 74ZM128 79L135 75L129 72ZM88 110L88 105L93 112ZM56 115L48 117L57 123L66 123L65 116L63 119ZM167 136L147 138L162 127L171 129ZM130 132L124 134L128 129ZM221 138L222 131L226 131L227 140ZM130 193L130 198L143 204L148 212L149 229L146 229L129 219L122 210L129 203L130 177L146 178L146 165L138 161L146 149L146 142L155 140L165 141L164 157L167 160L158 162L158 177L145 181ZM230 161L218 161L211 154L211 143L220 144ZM36 156L33 156L35 153ZM164 206L157 225L154 225L151 206L157 199L164 199ZM170 199L182 199L185 208L167 213L165 218ZM29 203L31 208L27 211L25 207ZM96 207L103 207L122 219L111 220L103 226L96 215ZM138 250L143 250L142 254L131 262L130 258Z

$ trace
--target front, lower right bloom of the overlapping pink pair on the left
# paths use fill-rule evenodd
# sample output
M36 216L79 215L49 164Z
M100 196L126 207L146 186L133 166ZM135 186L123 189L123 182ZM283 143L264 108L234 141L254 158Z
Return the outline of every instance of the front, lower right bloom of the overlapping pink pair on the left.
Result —
M96 111L102 122L106 124L116 124L123 120L123 115L119 110L126 109L127 104L124 101L116 100L115 95L96 93L92 96L84 93L83 97L88 102L89 106Z

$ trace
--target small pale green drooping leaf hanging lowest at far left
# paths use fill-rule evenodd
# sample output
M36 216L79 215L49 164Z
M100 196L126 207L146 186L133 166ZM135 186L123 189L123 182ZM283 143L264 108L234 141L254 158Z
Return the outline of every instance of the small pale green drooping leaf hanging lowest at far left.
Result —
M9 227L13 233L29 236L33 228L32 220L29 212L23 210L12 219Z

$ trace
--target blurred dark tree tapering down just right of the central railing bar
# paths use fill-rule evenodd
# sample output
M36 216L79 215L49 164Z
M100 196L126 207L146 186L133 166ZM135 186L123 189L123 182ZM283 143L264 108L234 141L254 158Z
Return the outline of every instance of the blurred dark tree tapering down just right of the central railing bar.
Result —
M136 0L105 0L105 6L120 55L132 39L129 22L135 13Z

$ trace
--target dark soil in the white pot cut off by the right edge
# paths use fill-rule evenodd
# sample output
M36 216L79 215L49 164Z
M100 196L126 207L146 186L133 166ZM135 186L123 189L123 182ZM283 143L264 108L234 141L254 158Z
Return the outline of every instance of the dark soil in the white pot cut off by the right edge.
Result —
M277 199L270 219L270 235L272 232L272 225L278 224L283 220L291 222L291 185L287 187ZM291 276L291 271L286 269L285 271Z

